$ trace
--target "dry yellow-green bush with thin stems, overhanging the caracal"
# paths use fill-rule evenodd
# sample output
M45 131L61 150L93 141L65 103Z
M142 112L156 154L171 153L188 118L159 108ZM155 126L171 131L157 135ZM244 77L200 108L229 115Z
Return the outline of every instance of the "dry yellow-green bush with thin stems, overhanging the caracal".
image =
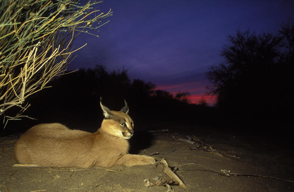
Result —
M0 116L23 117L27 98L65 72L76 35L97 31L111 12L95 9L99 2L73 0L0 1ZM91 34L91 33L90 33ZM92 34L93 35L93 34ZM7 109L20 111L7 116Z

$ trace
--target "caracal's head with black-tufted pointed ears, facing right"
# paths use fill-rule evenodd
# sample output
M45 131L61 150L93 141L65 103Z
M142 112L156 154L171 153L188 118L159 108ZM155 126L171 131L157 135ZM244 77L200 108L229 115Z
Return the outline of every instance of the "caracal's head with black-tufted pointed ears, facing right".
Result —
M103 110L104 120L102 121L102 131L110 135L130 139L134 134L134 121L128 115L129 107L125 100L125 106L120 111L111 110L102 103L100 98L100 106Z

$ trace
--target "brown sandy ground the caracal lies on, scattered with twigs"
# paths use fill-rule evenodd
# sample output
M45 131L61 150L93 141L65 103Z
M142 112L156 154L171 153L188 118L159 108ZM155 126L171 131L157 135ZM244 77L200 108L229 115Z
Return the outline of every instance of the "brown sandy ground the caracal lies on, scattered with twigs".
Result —
M165 127L163 127L165 129ZM166 127L168 128L168 127ZM153 154L160 162L165 158L170 167L187 186L171 186L176 192L282 192L294 191L293 152L248 140L239 135L199 131L196 127L176 127L168 132L138 132L131 140L132 153ZM180 130L180 131L179 131ZM172 135L202 137L218 153L191 150L193 145L176 141ZM0 192L166 192L164 186L147 188L145 179L164 175L164 166L156 165L111 168L40 168L12 167L13 144L16 138L0 138ZM137 147L134 147L137 146ZM244 176L222 176L218 172L229 170ZM258 175L258 176L246 176ZM265 177L260 177L265 176ZM273 179L268 177L275 177Z

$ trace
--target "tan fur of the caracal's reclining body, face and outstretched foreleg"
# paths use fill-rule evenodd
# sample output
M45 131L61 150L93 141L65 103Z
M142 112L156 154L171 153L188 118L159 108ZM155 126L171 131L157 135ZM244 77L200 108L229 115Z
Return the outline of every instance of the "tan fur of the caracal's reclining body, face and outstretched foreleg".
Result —
M127 139L134 132L131 117L122 111L111 110L107 113L114 118L104 119L95 133L71 130L60 123L35 125L15 143L14 158L19 164L41 167L154 164L152 157L128 154ZM119 121L124 121L126 127L122 127Z

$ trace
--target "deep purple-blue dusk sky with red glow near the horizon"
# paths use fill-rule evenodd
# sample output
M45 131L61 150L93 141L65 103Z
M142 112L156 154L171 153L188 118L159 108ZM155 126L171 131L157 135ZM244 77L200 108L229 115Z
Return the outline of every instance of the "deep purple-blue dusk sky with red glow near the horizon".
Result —
M170 93L190 92L197 103L209 85L207 68L219 56L228 35L250 29L277 34L282 23L294 21L294 0L105 0L110 22L97 33L81 34L69 69L128 70L131 80L150 81ZM212 101L205 97L209 103Z

